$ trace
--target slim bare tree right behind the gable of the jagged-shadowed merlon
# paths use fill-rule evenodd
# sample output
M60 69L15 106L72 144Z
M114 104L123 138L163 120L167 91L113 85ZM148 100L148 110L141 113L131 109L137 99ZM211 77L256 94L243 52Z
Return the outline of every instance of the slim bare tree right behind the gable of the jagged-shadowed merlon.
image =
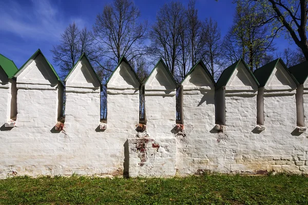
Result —
M205 52L203 54L203 59L211 75L215 77L221 69L220 29L218 28L217 22L211 17L205 19L204 27L206 30L206 37L204 38Z

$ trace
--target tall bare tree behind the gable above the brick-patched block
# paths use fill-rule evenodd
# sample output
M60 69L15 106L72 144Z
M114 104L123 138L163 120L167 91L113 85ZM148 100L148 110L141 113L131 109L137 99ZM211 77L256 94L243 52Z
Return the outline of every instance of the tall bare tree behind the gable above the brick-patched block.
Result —
M162 57L172 75L176 72L183 22L184 6L180 2L170 2L160 8L150 31L151 54L155 55L156 59Z

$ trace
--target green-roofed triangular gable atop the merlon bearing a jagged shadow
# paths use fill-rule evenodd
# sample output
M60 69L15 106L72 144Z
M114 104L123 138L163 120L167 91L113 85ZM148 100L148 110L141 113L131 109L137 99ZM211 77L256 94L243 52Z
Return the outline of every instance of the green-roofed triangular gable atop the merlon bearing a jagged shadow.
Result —
M182 80L181 85L185 87L216 87L214 78L211 76L202 60L190 69Z

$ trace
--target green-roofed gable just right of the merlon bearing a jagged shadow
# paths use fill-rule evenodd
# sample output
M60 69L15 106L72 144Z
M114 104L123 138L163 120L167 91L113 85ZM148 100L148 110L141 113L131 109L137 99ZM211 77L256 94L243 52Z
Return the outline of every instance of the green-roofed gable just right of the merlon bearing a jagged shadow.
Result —
M243 59L226 68L217 81L217 89L224 86L240 89L240 87L254 87L254 85L259 86L259 82Z

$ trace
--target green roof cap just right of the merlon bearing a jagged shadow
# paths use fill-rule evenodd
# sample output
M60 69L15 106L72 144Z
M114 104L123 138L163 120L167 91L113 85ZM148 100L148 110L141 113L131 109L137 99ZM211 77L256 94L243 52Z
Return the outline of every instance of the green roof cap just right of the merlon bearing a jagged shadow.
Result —
M248 68L245 61L241 58L238 61L236 61L234 64L226 68L220 75L218 81L217 81L217 88L221 88L223 86L226 86L230 77L232 76L235 69L238 67L238 65L242 62L244 64L244 67L247 69L248 73L253 77L254 81L256 82L257 86L259 86L259 82L253 72Z

